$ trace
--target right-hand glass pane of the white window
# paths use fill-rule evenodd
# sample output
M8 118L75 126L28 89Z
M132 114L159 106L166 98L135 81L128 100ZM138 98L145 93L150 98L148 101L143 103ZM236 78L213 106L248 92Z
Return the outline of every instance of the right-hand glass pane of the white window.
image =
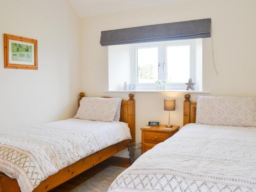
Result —
M166 50L167 81L187 82L190 67L190 46L170 46Z

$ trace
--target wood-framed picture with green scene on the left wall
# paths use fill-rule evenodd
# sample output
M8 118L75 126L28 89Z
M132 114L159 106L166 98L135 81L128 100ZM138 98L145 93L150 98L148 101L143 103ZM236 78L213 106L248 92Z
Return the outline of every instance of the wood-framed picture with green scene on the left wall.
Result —
M37 40L4 34L5 68L37 70Z

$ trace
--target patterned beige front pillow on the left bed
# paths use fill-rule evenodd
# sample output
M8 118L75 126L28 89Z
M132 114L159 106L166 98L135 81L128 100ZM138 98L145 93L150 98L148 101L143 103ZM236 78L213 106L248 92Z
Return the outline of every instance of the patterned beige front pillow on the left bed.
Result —
M121 98L90 98L83 97L74 118L112 122Z

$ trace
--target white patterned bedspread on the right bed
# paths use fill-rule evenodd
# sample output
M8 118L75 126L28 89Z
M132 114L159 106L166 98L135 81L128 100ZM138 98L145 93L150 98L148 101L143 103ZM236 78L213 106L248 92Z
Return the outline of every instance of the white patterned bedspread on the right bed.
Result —
M256 191L256 128L187 124L109 191Z

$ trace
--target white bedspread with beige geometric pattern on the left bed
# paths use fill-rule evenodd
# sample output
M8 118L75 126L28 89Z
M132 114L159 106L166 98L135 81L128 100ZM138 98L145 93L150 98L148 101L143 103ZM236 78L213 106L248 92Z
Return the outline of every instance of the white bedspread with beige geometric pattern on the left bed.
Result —
M80 119L1 133L0 172L32 191L58 170L125 139L131 139L127 123Z

